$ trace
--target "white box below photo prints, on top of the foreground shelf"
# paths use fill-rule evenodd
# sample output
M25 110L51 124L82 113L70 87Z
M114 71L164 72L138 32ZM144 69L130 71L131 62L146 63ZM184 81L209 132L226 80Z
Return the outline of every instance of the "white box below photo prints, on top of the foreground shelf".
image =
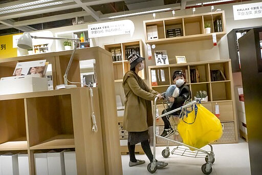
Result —
M24 77L0 81L0 95L48 90L47 78Z

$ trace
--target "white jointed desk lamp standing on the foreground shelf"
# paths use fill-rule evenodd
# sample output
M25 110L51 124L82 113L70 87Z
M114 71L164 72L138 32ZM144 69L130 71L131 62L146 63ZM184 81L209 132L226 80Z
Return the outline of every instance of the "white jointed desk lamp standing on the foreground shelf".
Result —
M70 66L73 62L74 59L74 54L76 51L76 47L79 43L78 38L64 38L64 37L41 37L41 36L31 36L29 32L24 32L18 39L17 46L22 49L32 49L32 38L34 39L47 39L47 40L69 40L73 41L75 43L74 50L71 53L71 57L67 66L67 69L65 70L65 73L63 75L63 81L64 85L58 85L57 89L62 89L62 88L73 88L77 87L76 85L68 85L68 71L70 69Z

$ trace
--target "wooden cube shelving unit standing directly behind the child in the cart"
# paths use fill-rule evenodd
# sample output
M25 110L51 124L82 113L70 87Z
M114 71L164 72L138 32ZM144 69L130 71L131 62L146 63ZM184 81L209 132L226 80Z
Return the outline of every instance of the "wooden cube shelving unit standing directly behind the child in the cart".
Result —
M164 70L165 81L161 82L161 79L157 82L159 86L151 85L151 70ZM199 71L199 82L191 83L190 69L197 69ZM211 71L212 70L221 70L226 80L211 81ZM234 104L234 90L233 90L233 81L232 81L232 71L231 71L231 61L230 60L220 60L220 61L210 61L210 62L192 62L184 64L171 64L165 66L149 66L149 83L150 87L160 93L165 92L169 85L172 84L172 73L176 70L182 70L185 72L186 85L189 86L192 99L196 95L197 91L205 90L208 93L208 101L202 102L202 105L205 106L212 113L215 113L215 104L219 105L220 108L220 121L224 126L224 132L222 138L217 140L215 143L236 143L237 138L237 124L236 124L236 113L235 113L235 104ZM157 74L157 76L160 76ZM158 104L159 114L161 114L164 109L161 103ZM163 127L163 122L160 119L157 121L159 128ZM172 135L171 137L178 135ZM174 139L174 138L171 138ZM160 140L160 139L159 139ZM159 141L157 146L164 146L166 144Z

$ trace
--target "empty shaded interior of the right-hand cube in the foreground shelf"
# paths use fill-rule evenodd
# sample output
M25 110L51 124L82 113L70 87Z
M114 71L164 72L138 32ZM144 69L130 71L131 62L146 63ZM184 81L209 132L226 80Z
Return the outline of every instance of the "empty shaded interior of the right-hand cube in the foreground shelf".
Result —
M30 98L27 108L30 147L57 135L74 135L70 95Z

